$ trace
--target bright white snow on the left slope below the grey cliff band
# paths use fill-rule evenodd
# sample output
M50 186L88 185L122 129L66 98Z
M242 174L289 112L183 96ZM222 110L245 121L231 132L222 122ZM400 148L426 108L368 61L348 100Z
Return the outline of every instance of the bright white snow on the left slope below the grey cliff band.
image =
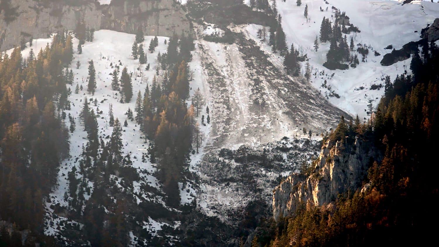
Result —
M55 235L58 232L57 228L60 224L60 221L69 220L68 218L59 217L59 215L53 216L53 210L50 209L50 205L56 205L58 203L62 207L69 208L68 202L64 200L65 192L68 193L68 172L71 171L72 167L75 166L77 170L76 178L83 179L82 175L79 174L79 160L83 159L81 153L83 152L83 145L86 145L87 143L87 134L84 131L83 123L81 123L79 119L79 113L83 107L85 97L87 97L88 100L91 98L97 99L98 103L96 106L93 102L90 102L90 109L94 109L95 113L102 111L101 114L97 114L97 121L99 125L99 135L104 139L105 142L108 141L108 139L105 137L112 134L113 127L108 125L108 109L110 104L113 105L114 117L119 118L119 121L122 124L122 130L124 131L122 132L122 142L124 145L122 150L123 156L130 154L133 167L137 169L140 175L140 181L133 182L133 194L137 200L137 203L140 203L141 200L150 200L155 203L161 203L164 205L164 207L168 208L163 202L163 198L161 196L150 192L145 192L140 189L142 184L147 184L161 191L161 184L159 184L157 178L151 175L156 171L155 164L152 164L148 158L145 162L142 162L142 154L147 153L146 149L148 148L148 142L145 142L139 126L136 125L134 121L127 120L128 127L123 127L123 122L126 120L126 111L128 108L134 110L137 92L140 91L143 96L147 84L151 83L152 78L155 75L155 61L157 54L158 52L166 52L167 46L164 44L164 41L168 38L159 36L158 47L156 47L152 54L149 52L147 53L148 63L150 63L150 69L147 71L145 70L146 64L140 65L138 59L134 60L131 56L131 44L134 42L134 36L135 35L133 34L119 33L110 30L99 30L94 33L93 42L86 42L83 45L82 54L77 54L76 49L74 49L74 58L69 69L73 70L75 79L72 85L67 85L67 87L72 91L72 94L68 97L68 100L71 102L71 110L66 110L65 113L67 115L70 114L75 118L76 130L73 133L70 133L70 157L61 161L58 174L58 183L53 192L50 193L51 202L46 203L47 215L45 233L47 235ZM143 42L145 51L148 51L146 47L148 47L147 45L152 38L154 37L145 36L145 40ZM78 42L79 41L74 38L73 47L77 47ZM39 50L44 48L47 43L51 43L50 38L34 40L32 47L27 47L22 51L23 58L27 58L31 48L34 50L35 54L38 54ZM12 50L13 49L7 51L7 53L11 54ZM94 95L87 93L88 62L92 59L96 69L97 81L96 92ZM76 69L77 61L81 63L79 69ZM110 66L110 63L112 63L113 66L121 63L120 70L126 66L128 73L133 73L131 77L133 84L133 98L131 99L130 103L120 103L120 94L118 94L117 91L111 90L112 76L109 75L109 73L112 73L113 69ZM137 70L139 67L140 70ZM77 84L83 86L83 90L80 90L79 94L74 93ZM198 87L202 87L202 85L198 85ZM99 111L97 109L99 109ZM66 117L64 121L68 127L70 125L68 117ZM205 131L205 127L202 127L202 130ZM120 185L121 178L112 175L111 180L115 182L119 189L125 189ZM84 197L86 200L88 200L93 192L93 183L88 181L88 179L86 179L86 182L88 183L87 186L90 188L90 193L85 193ZM184 191L186 192L188 188L190 188L190 186L187 186L187 188L185 187ZM191 194L194 194L193 189L191 189ZM191 197L184 198L185 199L182 201L182 203L191 202ZM71 200L71 198L68 200ZM62 227L60 229L62 229ZM132 235L132 233L130 233L130 235Z

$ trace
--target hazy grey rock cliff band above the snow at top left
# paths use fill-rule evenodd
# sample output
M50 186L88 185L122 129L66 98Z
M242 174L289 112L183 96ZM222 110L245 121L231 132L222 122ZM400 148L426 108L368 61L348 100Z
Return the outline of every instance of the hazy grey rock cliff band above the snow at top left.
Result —
M69 2L67 2L69 3ZM191 32L190 21L174 0L113 0L110 5L84 0L10 1L0 12L0 49L6 50L33 38L47 37L60 30L74 30L84 20L88 27L145 35L172 36Z

